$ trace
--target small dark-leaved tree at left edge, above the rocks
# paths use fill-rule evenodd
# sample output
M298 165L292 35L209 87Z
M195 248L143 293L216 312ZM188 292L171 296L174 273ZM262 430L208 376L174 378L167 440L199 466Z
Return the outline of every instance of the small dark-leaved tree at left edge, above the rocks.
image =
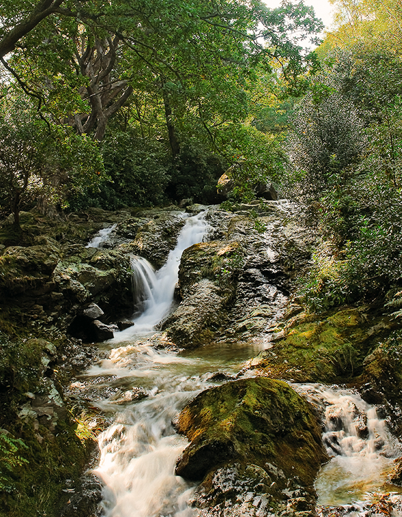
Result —
M69 193L102 179L98 149L85 139L39 117L11 92L0 100L0 206L19 228L22 207L65 205Z

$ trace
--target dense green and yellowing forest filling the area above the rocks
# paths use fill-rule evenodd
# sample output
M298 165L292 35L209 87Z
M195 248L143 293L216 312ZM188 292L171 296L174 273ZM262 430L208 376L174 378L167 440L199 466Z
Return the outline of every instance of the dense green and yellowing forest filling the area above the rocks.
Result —
M319 40L302 1L3 0L0 253L32 244L32 210L230 212L273 185L316 236L304 308L401 317L402 6L331 3ZM17 435L0 434L0 491L25 461Z

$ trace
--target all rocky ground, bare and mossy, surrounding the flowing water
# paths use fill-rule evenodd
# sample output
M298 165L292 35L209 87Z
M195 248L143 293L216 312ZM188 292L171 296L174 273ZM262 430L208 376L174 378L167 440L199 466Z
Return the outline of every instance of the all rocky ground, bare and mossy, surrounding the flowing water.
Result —
M92 209L60 220L27 212L22 235L8 221L1 225L0 396L8 409L0 426L4 437L28 446L19 454L29 462L1 482L4 515L106 512L100 483L80 478L91 461L96 466L94 440L111 424L99 401L136 404L149 391L77 376L110 361L110 349L96 345L102 325L110 338L136 310L131 257L160 268L186 214L203 209ZM286 201L260 200L230 212L214 207L205 220L204 241L183 252L172 310L157 337L148 337L147 350L192 354L252 345L261 352L238 371L219 369L200 384L207 391L183 404L175 427L190 443L176 473L199 483L192 507L200 516L313 516L314 480L328 461L322 415L289 382L357 389L400 437L400 325L378 306L308 314L293 299L314 236ZM87 247L112 226L100 247Z

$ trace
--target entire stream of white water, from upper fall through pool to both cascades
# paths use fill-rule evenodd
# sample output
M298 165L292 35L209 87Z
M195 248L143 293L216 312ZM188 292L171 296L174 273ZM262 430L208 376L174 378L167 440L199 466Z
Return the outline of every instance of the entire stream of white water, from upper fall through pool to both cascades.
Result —
M108 387L109 396L94 405L113 419L99 436L100 462L93 470L104 484L104 517L199 514L191 507L196 485L175 475L177 458L188 445L175 433L175 417L195 395L219 384L216 372L251 376L243 370L244 362L270 346L220 342L176 352L164 348L164 335L155 331L174 304L181 254L202 242L209 229L205 213L188 217L176 248L156 273L144 258L133 257L134 325L102 343L109 357L85 372L94 388ZM96 245L109 233L104 231ZM375 407L357 393L320 384L292 387L317 407L325 422L323 441L332 459L316 482L318 505L341 505L342 515L377 515L366 512L365 501L374 492L397 490L387 485L386 476L401 445Z

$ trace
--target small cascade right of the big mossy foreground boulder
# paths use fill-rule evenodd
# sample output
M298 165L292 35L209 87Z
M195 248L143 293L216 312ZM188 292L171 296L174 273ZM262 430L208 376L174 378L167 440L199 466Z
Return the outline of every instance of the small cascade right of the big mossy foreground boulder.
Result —
M315 483L318 504L350 505L367 501L373 492L389 491L387 476L393 459L401 455L401 444L392 437L375 406L346 389L313 384L295 389L306 395L324 417L322 439L332 459L323 466Z

